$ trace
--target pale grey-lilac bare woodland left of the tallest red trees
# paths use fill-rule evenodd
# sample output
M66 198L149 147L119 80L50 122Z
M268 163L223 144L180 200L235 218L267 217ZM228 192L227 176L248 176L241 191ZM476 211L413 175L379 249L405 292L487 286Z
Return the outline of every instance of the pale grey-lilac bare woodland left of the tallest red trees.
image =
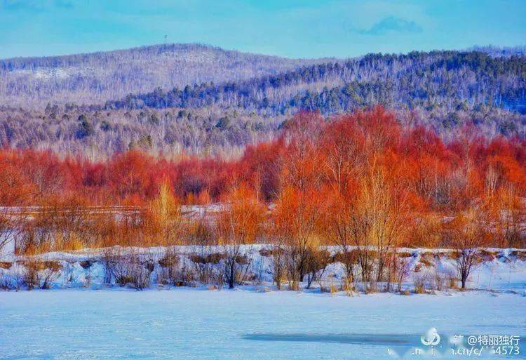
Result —
M249 143L276 137L284 120L217 107L82 111L48 105L43 112L0 107L0 145L89 159L132 149L166 156L231 157Z

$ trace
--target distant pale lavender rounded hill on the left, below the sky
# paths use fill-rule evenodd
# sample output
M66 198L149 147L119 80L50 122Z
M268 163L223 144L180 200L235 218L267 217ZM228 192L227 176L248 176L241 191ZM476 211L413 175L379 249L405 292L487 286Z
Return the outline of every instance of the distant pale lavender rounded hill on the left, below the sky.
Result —
M0 60L0 105L43 108L103 104L158 86L240 81L321 60L295 60L198 44L164 44L121 51Z

